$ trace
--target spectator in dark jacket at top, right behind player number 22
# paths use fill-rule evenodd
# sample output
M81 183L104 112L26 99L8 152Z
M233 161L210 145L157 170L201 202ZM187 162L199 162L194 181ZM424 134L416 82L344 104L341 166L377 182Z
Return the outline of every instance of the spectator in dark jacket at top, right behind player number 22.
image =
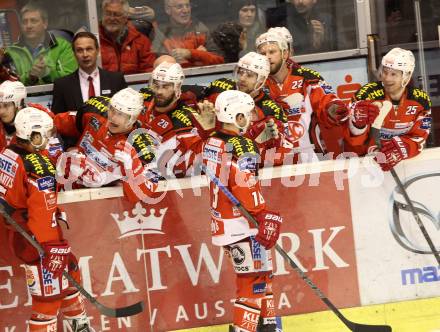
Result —
M287 27L296 54L335 50L332 16L318 10L318 0L291 0L268 12L269 27Z

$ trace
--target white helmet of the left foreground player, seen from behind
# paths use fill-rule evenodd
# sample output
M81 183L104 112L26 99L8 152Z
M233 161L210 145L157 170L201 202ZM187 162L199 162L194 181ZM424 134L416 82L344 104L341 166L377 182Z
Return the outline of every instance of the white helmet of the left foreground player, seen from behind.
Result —
M15 134L21 139L29 141L32 133L37 132L47 141L53 129L53 119L49 114L38 108L25 107L17 112L14 125L16 130ZM39 146L34 146L39 148L45 141Z

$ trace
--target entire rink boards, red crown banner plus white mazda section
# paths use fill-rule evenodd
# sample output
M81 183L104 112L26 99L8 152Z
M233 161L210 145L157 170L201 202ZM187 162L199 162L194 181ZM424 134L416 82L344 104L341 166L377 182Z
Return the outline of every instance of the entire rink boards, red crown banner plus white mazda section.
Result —
M440 149L430 149L396 168L410 181L408 193L434 243L440 243L439 166ZM268 168L261 179L268 206L284 216L279 244L338 308L372 306L347 310L350 319L388 324L405 305L395 302L439 295L434 257L423 254L425 241L391 175L368 158ZM128 203L120 188L60 195L85 288L108 306L146 304L142 314L119 320L89 305L95 329L168 331L232 320L234 276L221 248L211 245L206 185L204 177L169 181L152 205ZM0 230L0 331L25 331L25 284L34 281L26 280ZM320 331L313 325L319 321L343 330L332 314L316 313L327 308L278 254L274 271L285 331Z

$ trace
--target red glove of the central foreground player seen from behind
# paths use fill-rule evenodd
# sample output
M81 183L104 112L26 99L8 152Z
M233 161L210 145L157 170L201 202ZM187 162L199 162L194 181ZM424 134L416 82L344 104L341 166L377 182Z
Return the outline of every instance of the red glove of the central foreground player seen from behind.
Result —
M258 233L255 236L255 240L266 249L272 248L280 236L283 217L276 212L263 210L256 215L256 219L258 222Z

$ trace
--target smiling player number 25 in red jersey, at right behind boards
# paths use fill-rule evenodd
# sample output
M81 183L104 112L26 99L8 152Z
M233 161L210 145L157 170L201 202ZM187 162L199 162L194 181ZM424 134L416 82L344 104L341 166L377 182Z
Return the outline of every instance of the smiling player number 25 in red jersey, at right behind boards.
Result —
M384 160L378 161L384 171L389 171L403 159L419 154L431 129L431 100L428 94L408 85L414 67L411 51L393 48L382 58L380 81L360 88L352 103L354 111L347 129L346 151L359 155L369 152L369 148L374 149L374 139L369 135L371 124L383 103L392 103L380 130L380 152Z

